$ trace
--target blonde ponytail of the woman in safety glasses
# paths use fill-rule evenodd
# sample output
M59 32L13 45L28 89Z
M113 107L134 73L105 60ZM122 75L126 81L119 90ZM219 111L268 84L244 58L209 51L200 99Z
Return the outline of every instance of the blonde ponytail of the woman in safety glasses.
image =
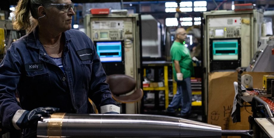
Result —
M30 16L30 0L20 0L15 8L13 17L13 28L15 30L26 29L29 32L31 23Z

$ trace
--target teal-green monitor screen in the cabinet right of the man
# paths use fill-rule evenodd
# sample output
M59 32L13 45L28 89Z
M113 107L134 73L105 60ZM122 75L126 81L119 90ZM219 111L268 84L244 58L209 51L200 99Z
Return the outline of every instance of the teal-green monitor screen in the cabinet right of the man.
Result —
M238 60L238 39L212 41L213 60Z

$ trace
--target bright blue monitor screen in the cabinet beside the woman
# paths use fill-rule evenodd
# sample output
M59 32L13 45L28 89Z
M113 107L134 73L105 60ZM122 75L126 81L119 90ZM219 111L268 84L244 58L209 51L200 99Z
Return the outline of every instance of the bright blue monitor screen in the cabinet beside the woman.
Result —
M94 44L101 62L122 62L121 41L97 41Z

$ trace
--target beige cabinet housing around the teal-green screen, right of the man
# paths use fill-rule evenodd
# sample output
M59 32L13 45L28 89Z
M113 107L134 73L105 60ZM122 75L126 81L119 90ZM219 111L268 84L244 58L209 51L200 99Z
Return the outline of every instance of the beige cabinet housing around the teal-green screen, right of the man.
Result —
M204 91L204 105L205 113L207 114L207 93L208 93L208 74L215 71L235 71L230 68L232 64L237 64L243 67L249 66L253 55L258 49L258 42L261 37L261 24L263 22L263 13L259 10L248 11L228 11L217 10L210 12L203 12L204 18L204 37L203 37L203 91ZM227 60L226 57L220 55L222 60L214 60L212 56L211 40L230 40L238 39L238 59ZM224 56L227 56L223 54ZM218 61L230 61L225 62L225 66L228 68L222 68L220 70L212 69L212 64L218 66ZM219 64L219 66L224 66ZM229 69L229 70L228 70Z

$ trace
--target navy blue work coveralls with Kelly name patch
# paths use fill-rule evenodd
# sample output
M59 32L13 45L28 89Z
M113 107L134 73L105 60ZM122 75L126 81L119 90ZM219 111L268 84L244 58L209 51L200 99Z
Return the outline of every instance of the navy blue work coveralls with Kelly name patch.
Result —
M20 109L57 107L59 112L93 113L88 98L97 109L116 105L91 39L74 29L62 36L66 41L62 54L65 72L47 55L38 39L38 28L7 50L0 64L0 119L4 127L14 129L11 120Z

